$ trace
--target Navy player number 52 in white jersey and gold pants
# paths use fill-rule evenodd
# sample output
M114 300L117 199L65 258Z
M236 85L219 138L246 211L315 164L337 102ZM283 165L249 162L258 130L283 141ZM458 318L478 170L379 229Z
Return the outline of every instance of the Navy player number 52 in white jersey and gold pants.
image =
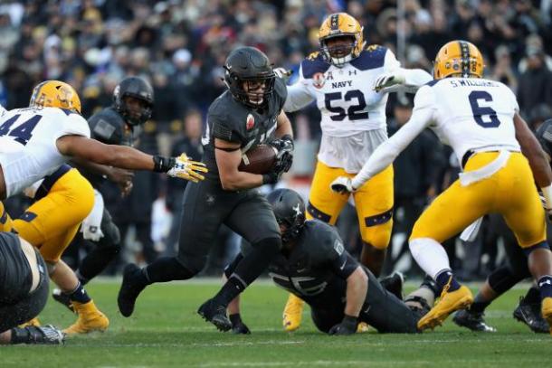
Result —
M300 64L299 81L288 87L284 110L316 101L322 139L312 180L307 218L335 224L349 195L332 193L339 175L354 176L376 146L387 139L387 93L415 92L432 79L422 70L400 67L385 47L366 47L362 26L349 14L330 14L320 25L320 52ZM379 276L393 227L393 166L353 194L363 241L360 261ZM300 326L302 301L290 295L284 310L287 331Z

